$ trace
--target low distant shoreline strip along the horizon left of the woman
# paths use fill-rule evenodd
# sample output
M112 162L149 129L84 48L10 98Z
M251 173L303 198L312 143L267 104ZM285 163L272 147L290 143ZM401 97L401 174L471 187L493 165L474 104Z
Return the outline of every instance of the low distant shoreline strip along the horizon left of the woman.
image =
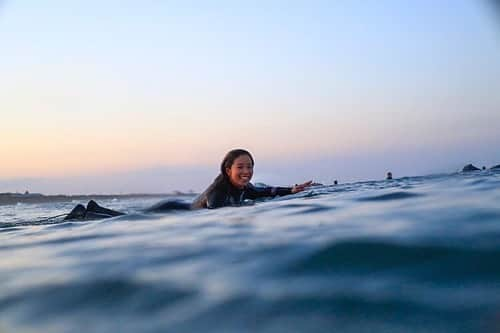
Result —
M134 199L134 198L168 198L172 196L194 196L195 193L131 193L131 194L77 194L77 195L45 195L40 193L0 193L0 206L16 205L18 203L46 203L46 202L71 202L107 199Z

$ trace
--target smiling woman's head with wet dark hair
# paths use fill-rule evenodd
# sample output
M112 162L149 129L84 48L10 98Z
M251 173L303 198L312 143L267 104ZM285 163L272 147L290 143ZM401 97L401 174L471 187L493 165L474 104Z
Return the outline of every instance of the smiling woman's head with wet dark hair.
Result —
M248 185L253 176L252 154L244 149L233 149L222 160L221 175L237 188Z

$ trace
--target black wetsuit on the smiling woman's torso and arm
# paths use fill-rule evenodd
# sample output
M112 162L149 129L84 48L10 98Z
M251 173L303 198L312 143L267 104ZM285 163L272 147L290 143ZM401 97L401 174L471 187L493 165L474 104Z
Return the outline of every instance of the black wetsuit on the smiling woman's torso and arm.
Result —
M219 208L241 206L245 199L255 200L263 197L292 194L291 187L255 187L248 184L243 189L234 187L228 180L218 177L191 204L191 208Z

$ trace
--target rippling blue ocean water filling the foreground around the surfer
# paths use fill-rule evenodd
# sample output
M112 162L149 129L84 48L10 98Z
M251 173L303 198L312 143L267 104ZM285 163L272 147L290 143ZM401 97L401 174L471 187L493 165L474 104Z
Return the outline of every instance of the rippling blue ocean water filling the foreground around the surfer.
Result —
M500 332L500 173L100 203L0 206L0 332Z

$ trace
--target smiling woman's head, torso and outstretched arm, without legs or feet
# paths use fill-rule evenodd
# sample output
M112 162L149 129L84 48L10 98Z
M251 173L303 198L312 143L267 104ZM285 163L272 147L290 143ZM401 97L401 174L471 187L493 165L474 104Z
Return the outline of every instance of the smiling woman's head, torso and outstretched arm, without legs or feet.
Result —
M193 208L219 208L239 206L245 199L274 197L303 191L312 184L305 182L293 187L255 187L250 183L254 160L244 149L234 149L226 154L220 166L220 174L192 204Z

